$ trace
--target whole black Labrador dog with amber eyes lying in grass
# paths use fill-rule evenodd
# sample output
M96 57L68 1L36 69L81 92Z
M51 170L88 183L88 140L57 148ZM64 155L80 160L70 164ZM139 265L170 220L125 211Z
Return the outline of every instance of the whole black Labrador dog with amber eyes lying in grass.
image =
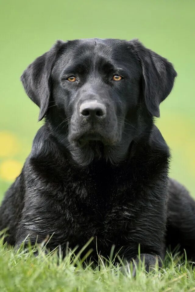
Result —
M58 41L24 71L44 126L7 191L0 229L19 245L52 235L50 249L112 245L147 269L166 245L195 260L195 202L168 179L169 149L154 126L172 90L171 63L138 40Z

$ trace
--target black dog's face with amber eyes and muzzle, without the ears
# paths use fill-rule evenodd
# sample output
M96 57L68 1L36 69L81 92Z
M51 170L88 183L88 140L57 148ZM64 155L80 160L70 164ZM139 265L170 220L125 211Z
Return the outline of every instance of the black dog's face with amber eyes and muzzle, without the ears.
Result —
M70 119L68 138L76 147L90 141L114 146L121 140L125 118L131 121L141 68L125 49L120 41L70 42L55 63L52 96L63 109L62 118Z

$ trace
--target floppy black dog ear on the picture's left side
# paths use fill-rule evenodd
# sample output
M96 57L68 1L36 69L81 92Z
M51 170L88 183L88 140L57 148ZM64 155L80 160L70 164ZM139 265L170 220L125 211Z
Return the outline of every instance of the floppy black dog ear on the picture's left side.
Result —
M40 107L38 121L44 118L48 109L51 96L51 70L62 43L58 40L48 52L31 63L20 78L27 95Z

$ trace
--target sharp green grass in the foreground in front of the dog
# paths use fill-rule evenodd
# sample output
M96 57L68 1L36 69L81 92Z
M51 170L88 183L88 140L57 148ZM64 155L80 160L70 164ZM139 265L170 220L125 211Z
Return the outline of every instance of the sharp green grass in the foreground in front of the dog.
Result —
M167 254L164 266L154 268L150 273L144 265L137 266L136 277L132 277L132 265L121 272L122 262L113 264L99 257L94 267L90 262L90 252L81 261L80 252L67 249L65 258L57 250L44 252L42 245L18 251L8 248L0 241L0 291L55 291L55 292L137 292L137 291L195 291L195 269L175 255ZM39 251L34 257L33 252ZM112 253L112 252L111 252ZM117 257L117 255L116 255ZM81 262L86 264L81 265Z

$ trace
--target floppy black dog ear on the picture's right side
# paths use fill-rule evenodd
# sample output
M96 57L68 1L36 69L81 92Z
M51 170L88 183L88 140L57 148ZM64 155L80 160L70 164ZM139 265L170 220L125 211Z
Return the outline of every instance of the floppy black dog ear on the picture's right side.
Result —
M130 43L142 68L146 107L152 116L159 117L159 105L171 92L177 73L167 59L144 47L139 40Z

